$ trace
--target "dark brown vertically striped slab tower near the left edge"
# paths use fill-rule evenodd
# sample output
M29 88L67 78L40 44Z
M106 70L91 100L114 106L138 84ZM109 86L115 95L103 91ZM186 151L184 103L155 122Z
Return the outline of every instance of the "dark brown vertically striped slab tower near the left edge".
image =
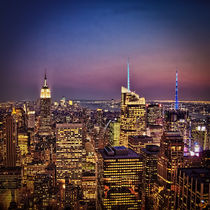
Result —
M13 114L5 120L5 166L15 167L17 161L17 123Z

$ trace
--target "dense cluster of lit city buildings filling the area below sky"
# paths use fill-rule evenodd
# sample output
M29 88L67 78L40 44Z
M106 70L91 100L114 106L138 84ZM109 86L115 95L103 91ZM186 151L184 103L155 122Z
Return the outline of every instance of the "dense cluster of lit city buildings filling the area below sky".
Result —
M52 102L45 75L37 102L1 103L0 209L209 209L209 105L177 86L171 107L128 80L110 111Z

